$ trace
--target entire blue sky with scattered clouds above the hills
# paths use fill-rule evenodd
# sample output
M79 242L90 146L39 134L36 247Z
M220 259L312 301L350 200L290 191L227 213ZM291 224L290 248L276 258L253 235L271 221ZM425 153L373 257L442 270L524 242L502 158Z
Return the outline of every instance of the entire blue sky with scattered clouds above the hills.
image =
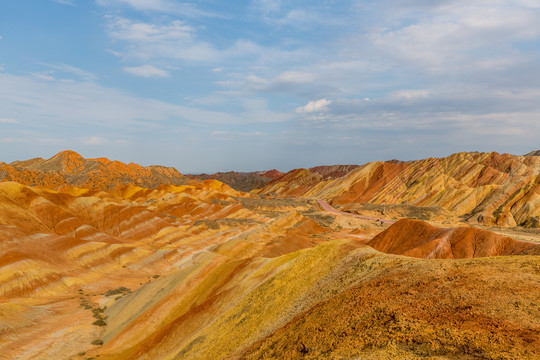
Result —
M539 138L537 0L0 2L0 161L283 171Z

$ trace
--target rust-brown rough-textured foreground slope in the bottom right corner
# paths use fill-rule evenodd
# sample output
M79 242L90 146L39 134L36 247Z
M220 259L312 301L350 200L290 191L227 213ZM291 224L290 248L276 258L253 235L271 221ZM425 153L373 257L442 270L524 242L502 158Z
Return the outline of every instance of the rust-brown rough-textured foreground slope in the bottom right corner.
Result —
M362 275L366 268L375 274L298 314L240 358L540 357L537 259L396 258L386 271L381 260L356 262Z

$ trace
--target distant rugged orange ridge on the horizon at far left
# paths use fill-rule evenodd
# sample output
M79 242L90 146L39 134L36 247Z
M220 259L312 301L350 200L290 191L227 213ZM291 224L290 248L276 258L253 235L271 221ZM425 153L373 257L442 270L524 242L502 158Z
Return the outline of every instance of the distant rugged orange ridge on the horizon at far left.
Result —
M62 151L50 159L0 163L0 181L16 181L30 186L56 189L73 185L107 190L116 184L155 188L162 184L187 183L176 169L165 166L124 164L106 158L84 159L73 151Z

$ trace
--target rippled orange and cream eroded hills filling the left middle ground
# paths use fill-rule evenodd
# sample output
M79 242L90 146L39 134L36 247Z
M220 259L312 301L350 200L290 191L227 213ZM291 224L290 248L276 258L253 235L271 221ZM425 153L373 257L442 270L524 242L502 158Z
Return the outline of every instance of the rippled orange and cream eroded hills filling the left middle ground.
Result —
M90 350L106 327L92 324L106 325L115 298L179 269L197 273L200 261L212 269L315 246L326 230L299 212L307 208L215 180L108 192L0 183L0 358Z

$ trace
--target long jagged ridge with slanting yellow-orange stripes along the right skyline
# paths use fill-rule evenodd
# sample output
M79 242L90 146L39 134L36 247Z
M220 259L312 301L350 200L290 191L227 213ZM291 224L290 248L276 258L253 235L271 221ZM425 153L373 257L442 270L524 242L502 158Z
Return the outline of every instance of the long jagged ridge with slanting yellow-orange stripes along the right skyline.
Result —
M538 227L540 156L457 153L409 162L378 161L329 178L297 169L255 192L317 198L333 205L441 207L470 223Z

